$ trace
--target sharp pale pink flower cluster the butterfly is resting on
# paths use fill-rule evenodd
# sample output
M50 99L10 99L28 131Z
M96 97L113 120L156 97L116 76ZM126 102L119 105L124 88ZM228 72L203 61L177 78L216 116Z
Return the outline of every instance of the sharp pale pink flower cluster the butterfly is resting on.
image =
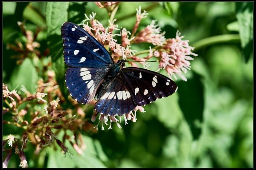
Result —
M111 11L109 8L112 8L116 5L114 2L96 2L97 6L100 8L106 8L107 11ZM115 24L116 19L113 21L109 20L108 27L104 27L102 23L95 19L96 13L90 14L89 17L85 14L86 19L79 25L81 25L84 30L86 30L89 34L96 38L102 45L105 46L107 50L110 51L110 54L114 61L117 61L121 57L128 58L129 62L132 67L139 67L137 63L133 61L139 61L140 64L143 65L144 68L148 68L149 64L145 61L150 59L151 57L159 58L159 69L165 69L170 78L174 77L177 79L176 75L180 76L181 79L186 81L186 77L183 73L186 73L187 70L191 68L190 60L193 58L192 56L197 56L197 54L192 53L192 48L189 46L188 40L182 40L184 36L180 36L180 33L177 31L175 38L166 39L164 37L165 32L161 32L161 28L156 24L156 20L152 20L152 22L146 26L141 31L137 31L140 22L143 18L147 17L148 13L144 10L141 12L141 7L137 9L136 14L136 22L134 23L134 28L132 32L127 31L126 28L122 28L122 35L114 34L115 31L119 31L118 25ZM122 45L117 43L115 39L116 36L121 36ZM132 50L133 44L138 43L151 43L153 48L150 47L149 50L144 51L135 51ZM140 57L140 54L148 55L146 57ZM143 110L142 107L138 107L133 112L130 112L124 115L125 124L127 120L132 120L133 122L136 121L136 111ZM144 111L144 110L143 110ZM93 114L92 121L96 120L98 113ZM108 120L110 120L111 129L111 122L116 122L118 127L119 120L116 119L115 116L99 116L99 123L102 122L102 129L103 122L105 125L108 125ZM121 119L120 119L121 122ZM99 124L98 124L99 125ZM98 125L96 126L98 128Z

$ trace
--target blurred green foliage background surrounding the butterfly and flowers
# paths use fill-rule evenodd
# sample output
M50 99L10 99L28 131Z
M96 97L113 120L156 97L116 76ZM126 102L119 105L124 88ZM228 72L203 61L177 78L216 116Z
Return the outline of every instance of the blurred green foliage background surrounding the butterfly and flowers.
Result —
M195 47L198 57L191 62L188 81L178 79L177 93L145 106L136 123L96 134L81 131L87 146L81 156L69 143L70 157L53 147L34 156L31 144L25 150L29 167L253 167L253 3L122 2L115 16L119 27L133 29L139 6L149 13L139 30L158 20L166 38L179 30ZM65 21L81 23L84 13L92 12L108 24L107 11L93 2L3 2L3 82L10 90L24 85L33 93L38 78L44 78L33 56L17 65L12 58L17 52L6 48L23 41L17 26L23 21L27 30L42 28L36 39L39 50L49 48L67 97L60 28ZM19 130L4 125L3 138L9 134ZM19 163L13 156L8 167Z

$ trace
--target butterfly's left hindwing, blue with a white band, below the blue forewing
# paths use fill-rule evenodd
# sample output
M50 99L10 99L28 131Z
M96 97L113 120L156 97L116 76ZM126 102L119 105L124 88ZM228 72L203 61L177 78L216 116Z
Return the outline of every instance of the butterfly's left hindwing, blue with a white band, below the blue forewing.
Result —
M73 99L82 104L93 100L108 69L68 67L65 76L66 86Z

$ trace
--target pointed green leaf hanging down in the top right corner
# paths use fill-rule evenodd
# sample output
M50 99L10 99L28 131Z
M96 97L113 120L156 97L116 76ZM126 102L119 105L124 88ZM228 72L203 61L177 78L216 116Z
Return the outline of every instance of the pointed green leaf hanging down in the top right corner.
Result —
M253 2L236 2L236 17L245 61L253 52Z

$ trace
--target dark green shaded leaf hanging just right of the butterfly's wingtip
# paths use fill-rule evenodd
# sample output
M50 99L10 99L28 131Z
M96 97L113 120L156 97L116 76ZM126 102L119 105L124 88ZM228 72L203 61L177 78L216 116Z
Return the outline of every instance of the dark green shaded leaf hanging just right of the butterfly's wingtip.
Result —
M194 139L198 139L201 128L197 123L201 123L204 111L204 88L201 76L194 72L194 77L187 82L177 82L179 104L188 122Z

